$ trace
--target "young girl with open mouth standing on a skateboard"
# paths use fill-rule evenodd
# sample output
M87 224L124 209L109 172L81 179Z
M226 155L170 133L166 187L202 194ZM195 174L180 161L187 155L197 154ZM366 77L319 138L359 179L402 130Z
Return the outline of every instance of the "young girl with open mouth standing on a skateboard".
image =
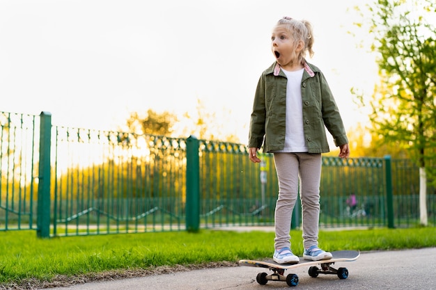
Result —
M263 72L254 96L249 131L249 158L260 162L257 150L274 153L279 179L275 209L273 259L297 263L290 250L290 221L298 189L302 201L304 259L318 261L332 254L318 248L321 153L329 152L325 127L348 158L348 138L322 72L304 56L313 56L309 22L283 17L272 31L276 61Z

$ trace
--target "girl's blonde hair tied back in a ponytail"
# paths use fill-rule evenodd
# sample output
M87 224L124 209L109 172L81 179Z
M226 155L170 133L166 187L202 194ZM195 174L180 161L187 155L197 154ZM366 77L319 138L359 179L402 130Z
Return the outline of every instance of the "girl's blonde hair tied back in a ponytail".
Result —
M298 60L303 62L306 56L306 51L309 52L309 56L313 56L313 29L312 24L306 20L297 20L290 17L283 17L277 22L277 26L285 26L290 35L293 36L295 42L302 40L304 42L304 48L300 51Z

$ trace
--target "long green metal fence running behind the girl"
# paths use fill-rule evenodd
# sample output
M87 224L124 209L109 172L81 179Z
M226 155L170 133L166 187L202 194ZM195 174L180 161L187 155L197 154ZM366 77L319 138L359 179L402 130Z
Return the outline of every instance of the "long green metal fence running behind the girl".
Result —
M196 138L53 125L0 112L0 230L39 236L273 225L272 155ZM354 194L355 207L347 202ZM428 216L435 224L435 188ZM419 223L419 170L408 160L322 157L320 227ZM293 227L301 223L296 207Z

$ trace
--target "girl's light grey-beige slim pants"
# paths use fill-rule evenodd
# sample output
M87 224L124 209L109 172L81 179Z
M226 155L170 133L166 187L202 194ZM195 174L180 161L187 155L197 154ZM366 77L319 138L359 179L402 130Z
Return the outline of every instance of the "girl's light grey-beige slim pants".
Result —
M274 247L290 248L290 222L295 202L302 201L303 245L318 245L320 220L321 154L274 153L279 178L279 198L275 210Z

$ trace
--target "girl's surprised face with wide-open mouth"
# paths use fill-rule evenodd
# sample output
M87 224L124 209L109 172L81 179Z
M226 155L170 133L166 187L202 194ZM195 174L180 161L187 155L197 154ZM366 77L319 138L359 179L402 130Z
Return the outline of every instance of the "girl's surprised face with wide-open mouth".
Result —
M277 63L284 70L301 68L298 62L298 54L302 49L302 42L295 42L285 26L279 25L274 28L271 36L271 50L277 59Z

